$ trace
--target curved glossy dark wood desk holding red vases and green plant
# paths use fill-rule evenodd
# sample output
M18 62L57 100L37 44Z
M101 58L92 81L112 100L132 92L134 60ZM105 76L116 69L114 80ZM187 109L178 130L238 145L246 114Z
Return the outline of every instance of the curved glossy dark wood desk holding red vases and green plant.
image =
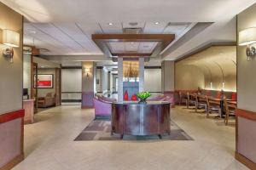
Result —
M121 102L112 104L112 131L123 138L127 135L159 135L170 134L170 103L164 101L148 101L147 104L137 102Z

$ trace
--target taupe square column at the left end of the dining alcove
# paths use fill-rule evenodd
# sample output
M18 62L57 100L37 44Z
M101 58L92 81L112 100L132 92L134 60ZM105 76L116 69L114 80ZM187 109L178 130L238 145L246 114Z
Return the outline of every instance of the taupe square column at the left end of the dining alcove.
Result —
M168 96L169 101L174 106L174 61L162 61L162 93Z

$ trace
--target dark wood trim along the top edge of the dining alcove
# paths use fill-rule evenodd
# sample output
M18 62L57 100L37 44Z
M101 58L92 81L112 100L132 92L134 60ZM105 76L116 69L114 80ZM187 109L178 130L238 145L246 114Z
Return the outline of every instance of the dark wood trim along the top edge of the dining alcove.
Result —
M211 48L214 46L236 46L236 42L210 42L201 48L197 48L189 54L184 54L182 57L175 60L175 62L181 61L183 59L189 58L191 55L199 54L207 48Z

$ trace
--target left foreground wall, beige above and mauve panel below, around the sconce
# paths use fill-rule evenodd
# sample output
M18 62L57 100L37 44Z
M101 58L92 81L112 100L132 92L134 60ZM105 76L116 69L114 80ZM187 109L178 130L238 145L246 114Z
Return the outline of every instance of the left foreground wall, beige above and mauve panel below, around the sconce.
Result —
M14 48L14 63L3 58L3 49L7 47L0 44L0 115L22 109L22 25L22 16L0 3L0 29L20 33L20 48ZM23 154L21 124L21 118L0 123L0 168Z

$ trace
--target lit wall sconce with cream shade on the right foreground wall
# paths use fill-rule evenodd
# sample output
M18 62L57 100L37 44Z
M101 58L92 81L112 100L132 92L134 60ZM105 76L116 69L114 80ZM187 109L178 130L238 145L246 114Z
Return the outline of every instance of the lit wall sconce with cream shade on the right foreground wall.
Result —
M250 60L252 57L256 55L256 49L252 46L252 44L256 42L256 27L247 28L243 31L240 31L238 38L239 46L247 46L247 60Z

